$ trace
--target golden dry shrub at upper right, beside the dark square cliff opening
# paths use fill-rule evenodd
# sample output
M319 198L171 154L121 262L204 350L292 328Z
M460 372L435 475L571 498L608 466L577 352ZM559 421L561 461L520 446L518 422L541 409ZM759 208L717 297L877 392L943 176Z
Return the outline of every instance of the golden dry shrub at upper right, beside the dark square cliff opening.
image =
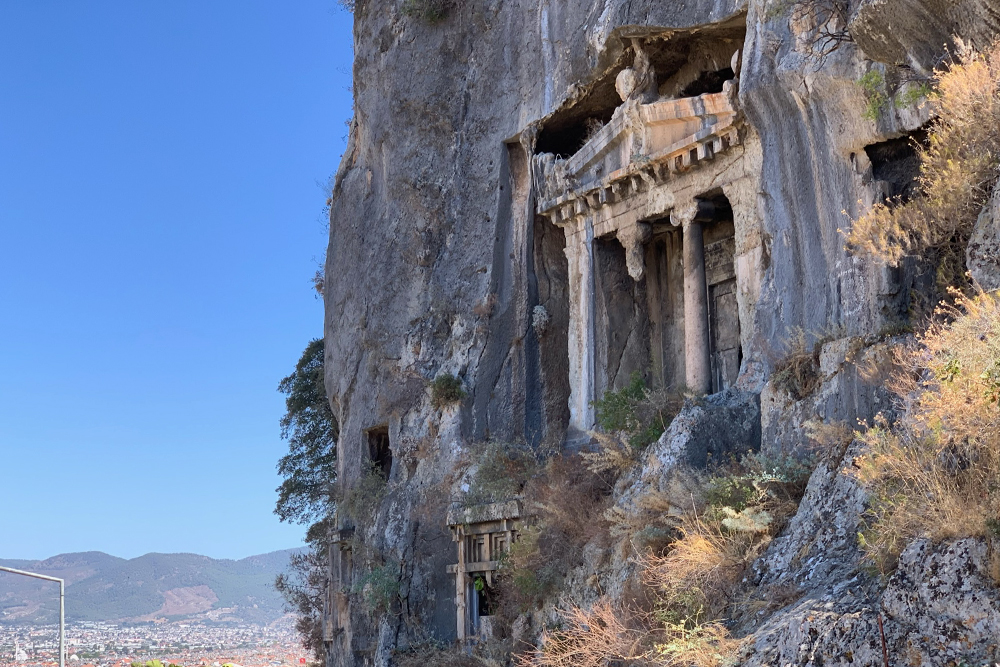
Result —
M997 181L1000 43L985 55L962 48L934 80L937 118L927 145L916 145L918 195L876 204L854 221L847 241L851 250L893 265L905 255L937 251L944 259L940 285L961 278L969 234Z

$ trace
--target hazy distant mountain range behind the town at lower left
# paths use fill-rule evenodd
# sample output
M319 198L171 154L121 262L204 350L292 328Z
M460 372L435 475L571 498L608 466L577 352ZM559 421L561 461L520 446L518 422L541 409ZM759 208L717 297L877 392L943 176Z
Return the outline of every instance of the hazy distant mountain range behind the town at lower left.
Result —
M0 559L0 565L65 579L67 621L270 623L285 613L274 578L301 551L242 560L155 553L126 560L88 551L42 561ZM56 584L0 572L0 624L41 625L58 618Z

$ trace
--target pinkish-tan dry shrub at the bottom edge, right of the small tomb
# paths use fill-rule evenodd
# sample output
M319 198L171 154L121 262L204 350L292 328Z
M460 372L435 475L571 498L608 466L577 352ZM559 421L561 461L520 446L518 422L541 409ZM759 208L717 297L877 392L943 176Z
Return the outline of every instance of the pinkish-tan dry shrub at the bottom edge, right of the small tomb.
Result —
M601 598L591 609L560 612L563 626L542 633L539 647L515 659L518 667L607 667L650 664L650 632L628 623L629 612Z

